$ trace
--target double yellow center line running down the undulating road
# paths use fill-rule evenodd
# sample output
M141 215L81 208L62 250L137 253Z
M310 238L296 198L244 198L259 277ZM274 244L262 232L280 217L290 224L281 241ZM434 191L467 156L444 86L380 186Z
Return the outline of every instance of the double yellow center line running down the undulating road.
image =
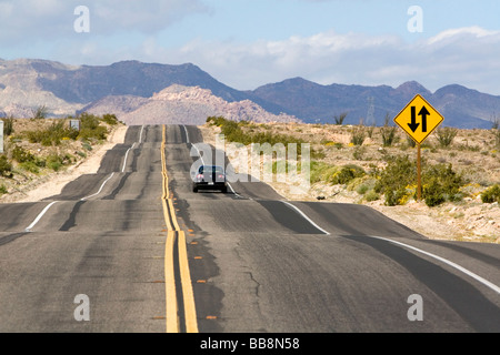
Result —
M179 274L180 285L182 290L182 301L184 311L184 323L187 333L198 333L197 311L194 305L194 294L192 291L191 274L189 272L188 251L186 243L184 231L181 231L177 222L176 210L173 209L173 201L169 191L169 176L167 173L166 159L166 136L167 128L163 125L162 142L161 142L161 174L162 181L162 196L161 203L163 205L164 222L167 224L168 235L164 248L164 285L166 285L166 302L167 302L167 333L179 333L179 303L177 301L176 288L176 265L174 265L174 246L178 244L179 258Z

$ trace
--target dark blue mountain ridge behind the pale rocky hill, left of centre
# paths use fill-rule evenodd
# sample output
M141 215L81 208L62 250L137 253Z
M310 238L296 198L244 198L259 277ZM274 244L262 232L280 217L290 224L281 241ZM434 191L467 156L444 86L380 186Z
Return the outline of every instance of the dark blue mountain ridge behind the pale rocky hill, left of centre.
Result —
M220 83L193 64L123 61L107 67L83 65L64 70L50 62L34 62L32 67L40 73L50 73L40 78L41 88L67 102L89 103L108 95L150 98L172 84L210 89L228 101L246 99L239 91Z

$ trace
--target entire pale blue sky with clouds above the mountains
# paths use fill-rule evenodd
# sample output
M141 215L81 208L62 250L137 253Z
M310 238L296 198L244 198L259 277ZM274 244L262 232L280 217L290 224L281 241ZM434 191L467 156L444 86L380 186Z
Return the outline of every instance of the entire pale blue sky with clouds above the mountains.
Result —
M74 31L78 6L88 33ZM408 29L413 6L421 32ZM0 0L0 48L8 60L191 62L240 90L302 77L500 95L498 0Z

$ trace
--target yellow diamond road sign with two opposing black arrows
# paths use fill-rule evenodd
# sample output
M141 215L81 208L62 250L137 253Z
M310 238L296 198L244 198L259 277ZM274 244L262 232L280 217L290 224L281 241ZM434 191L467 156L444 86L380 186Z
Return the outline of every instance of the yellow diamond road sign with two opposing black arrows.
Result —
M413 100L394 118L394 122L421 144L444 120L421 95Z

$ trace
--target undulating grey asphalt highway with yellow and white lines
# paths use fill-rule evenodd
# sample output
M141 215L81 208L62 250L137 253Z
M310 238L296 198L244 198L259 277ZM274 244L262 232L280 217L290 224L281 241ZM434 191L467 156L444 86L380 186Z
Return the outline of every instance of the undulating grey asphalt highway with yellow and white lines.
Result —
M97 174L0 205L0 332L500 332L499 245L262 182L193 193L201 141L131 126Z

